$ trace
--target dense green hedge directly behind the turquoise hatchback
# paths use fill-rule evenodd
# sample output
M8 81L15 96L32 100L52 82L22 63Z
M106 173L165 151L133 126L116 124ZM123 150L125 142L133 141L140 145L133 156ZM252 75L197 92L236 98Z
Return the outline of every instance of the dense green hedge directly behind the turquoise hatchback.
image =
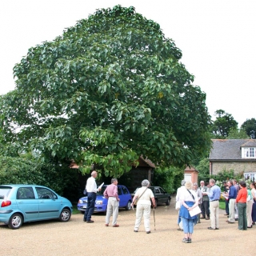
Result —
M38 159L0 156L0 184L37 184L48 186L71 201L77 201L81 188L78 170Z

